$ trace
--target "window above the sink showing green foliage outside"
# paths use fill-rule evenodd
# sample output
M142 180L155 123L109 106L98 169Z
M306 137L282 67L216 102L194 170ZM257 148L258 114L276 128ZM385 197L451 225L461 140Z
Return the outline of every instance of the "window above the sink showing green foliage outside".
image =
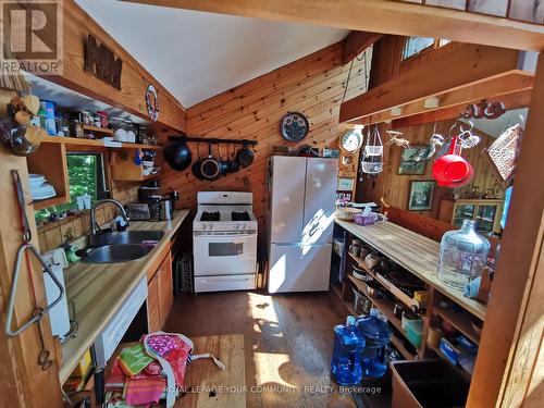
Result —
M47 218L51 212L64 212L77 207L77 197L90 195L92 200L108 197L102 153L67 153L70 202L36 211L36 219Z

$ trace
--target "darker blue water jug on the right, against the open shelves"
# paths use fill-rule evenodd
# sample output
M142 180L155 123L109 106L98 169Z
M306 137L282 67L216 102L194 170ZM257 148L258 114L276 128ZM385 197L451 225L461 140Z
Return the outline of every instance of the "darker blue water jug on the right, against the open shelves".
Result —
M379 378L387 370L387 344L391 341L391 329L385 319L380 317L378 309L371 309L370 314L357 319L357 331L364 339L361 353L361 368L364 376Z

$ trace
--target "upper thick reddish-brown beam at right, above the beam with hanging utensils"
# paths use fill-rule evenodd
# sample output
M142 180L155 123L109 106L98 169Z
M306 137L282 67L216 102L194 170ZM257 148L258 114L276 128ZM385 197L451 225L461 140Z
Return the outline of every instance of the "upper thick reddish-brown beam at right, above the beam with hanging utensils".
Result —
M342 103L339 122L364 123L368 116L394 107L405 107L502 76L522 74L518 61L519 51L516 50L463 45L455 52L440 55Z

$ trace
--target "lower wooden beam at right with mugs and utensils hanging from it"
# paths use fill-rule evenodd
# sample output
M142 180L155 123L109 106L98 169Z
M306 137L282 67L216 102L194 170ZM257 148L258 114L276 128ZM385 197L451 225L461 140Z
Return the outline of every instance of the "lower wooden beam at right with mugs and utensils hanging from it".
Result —
M403 118L433 111L447 110L456 106L465 107L468 103L477 102L482 99L491 99L508 94L518 94L527 89L530 90L532 86L532 75L514 73L436 95L434 98L436 98L437 106L432 108L425 107L426 99L420 99L403 106L399 114L393 115L391 110L386 110L378 114L368 115L364 120L355 121L355 123L370 125L373 123L396 121Z

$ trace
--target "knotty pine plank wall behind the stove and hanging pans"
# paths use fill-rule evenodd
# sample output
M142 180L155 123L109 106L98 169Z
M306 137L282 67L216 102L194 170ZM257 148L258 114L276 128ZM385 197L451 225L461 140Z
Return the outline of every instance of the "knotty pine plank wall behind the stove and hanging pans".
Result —
M255 161L248 169L215 182L199 181L190 170L175 172L166 166L163 189L180 190L180 207L195 207L196 194L200 190L252 191L255 213L262 220L267 164L272 147L298 146L283 140L280 134L282 116L292 111L308 116L310 133L299 145L334 146L345 128L338 124L338 111L350 65L342 65L341 61L342 42L338 42L188 109L188 135L256 139ZM354 61L346 100L366 89L362 62ZM370 70L370 60L368 67ZM196 157L196 145L189 147ZM207 154L208 147L201 146L200 151ZM234 153L234 149L231 152ZM223 156L226 156L225 148Z

